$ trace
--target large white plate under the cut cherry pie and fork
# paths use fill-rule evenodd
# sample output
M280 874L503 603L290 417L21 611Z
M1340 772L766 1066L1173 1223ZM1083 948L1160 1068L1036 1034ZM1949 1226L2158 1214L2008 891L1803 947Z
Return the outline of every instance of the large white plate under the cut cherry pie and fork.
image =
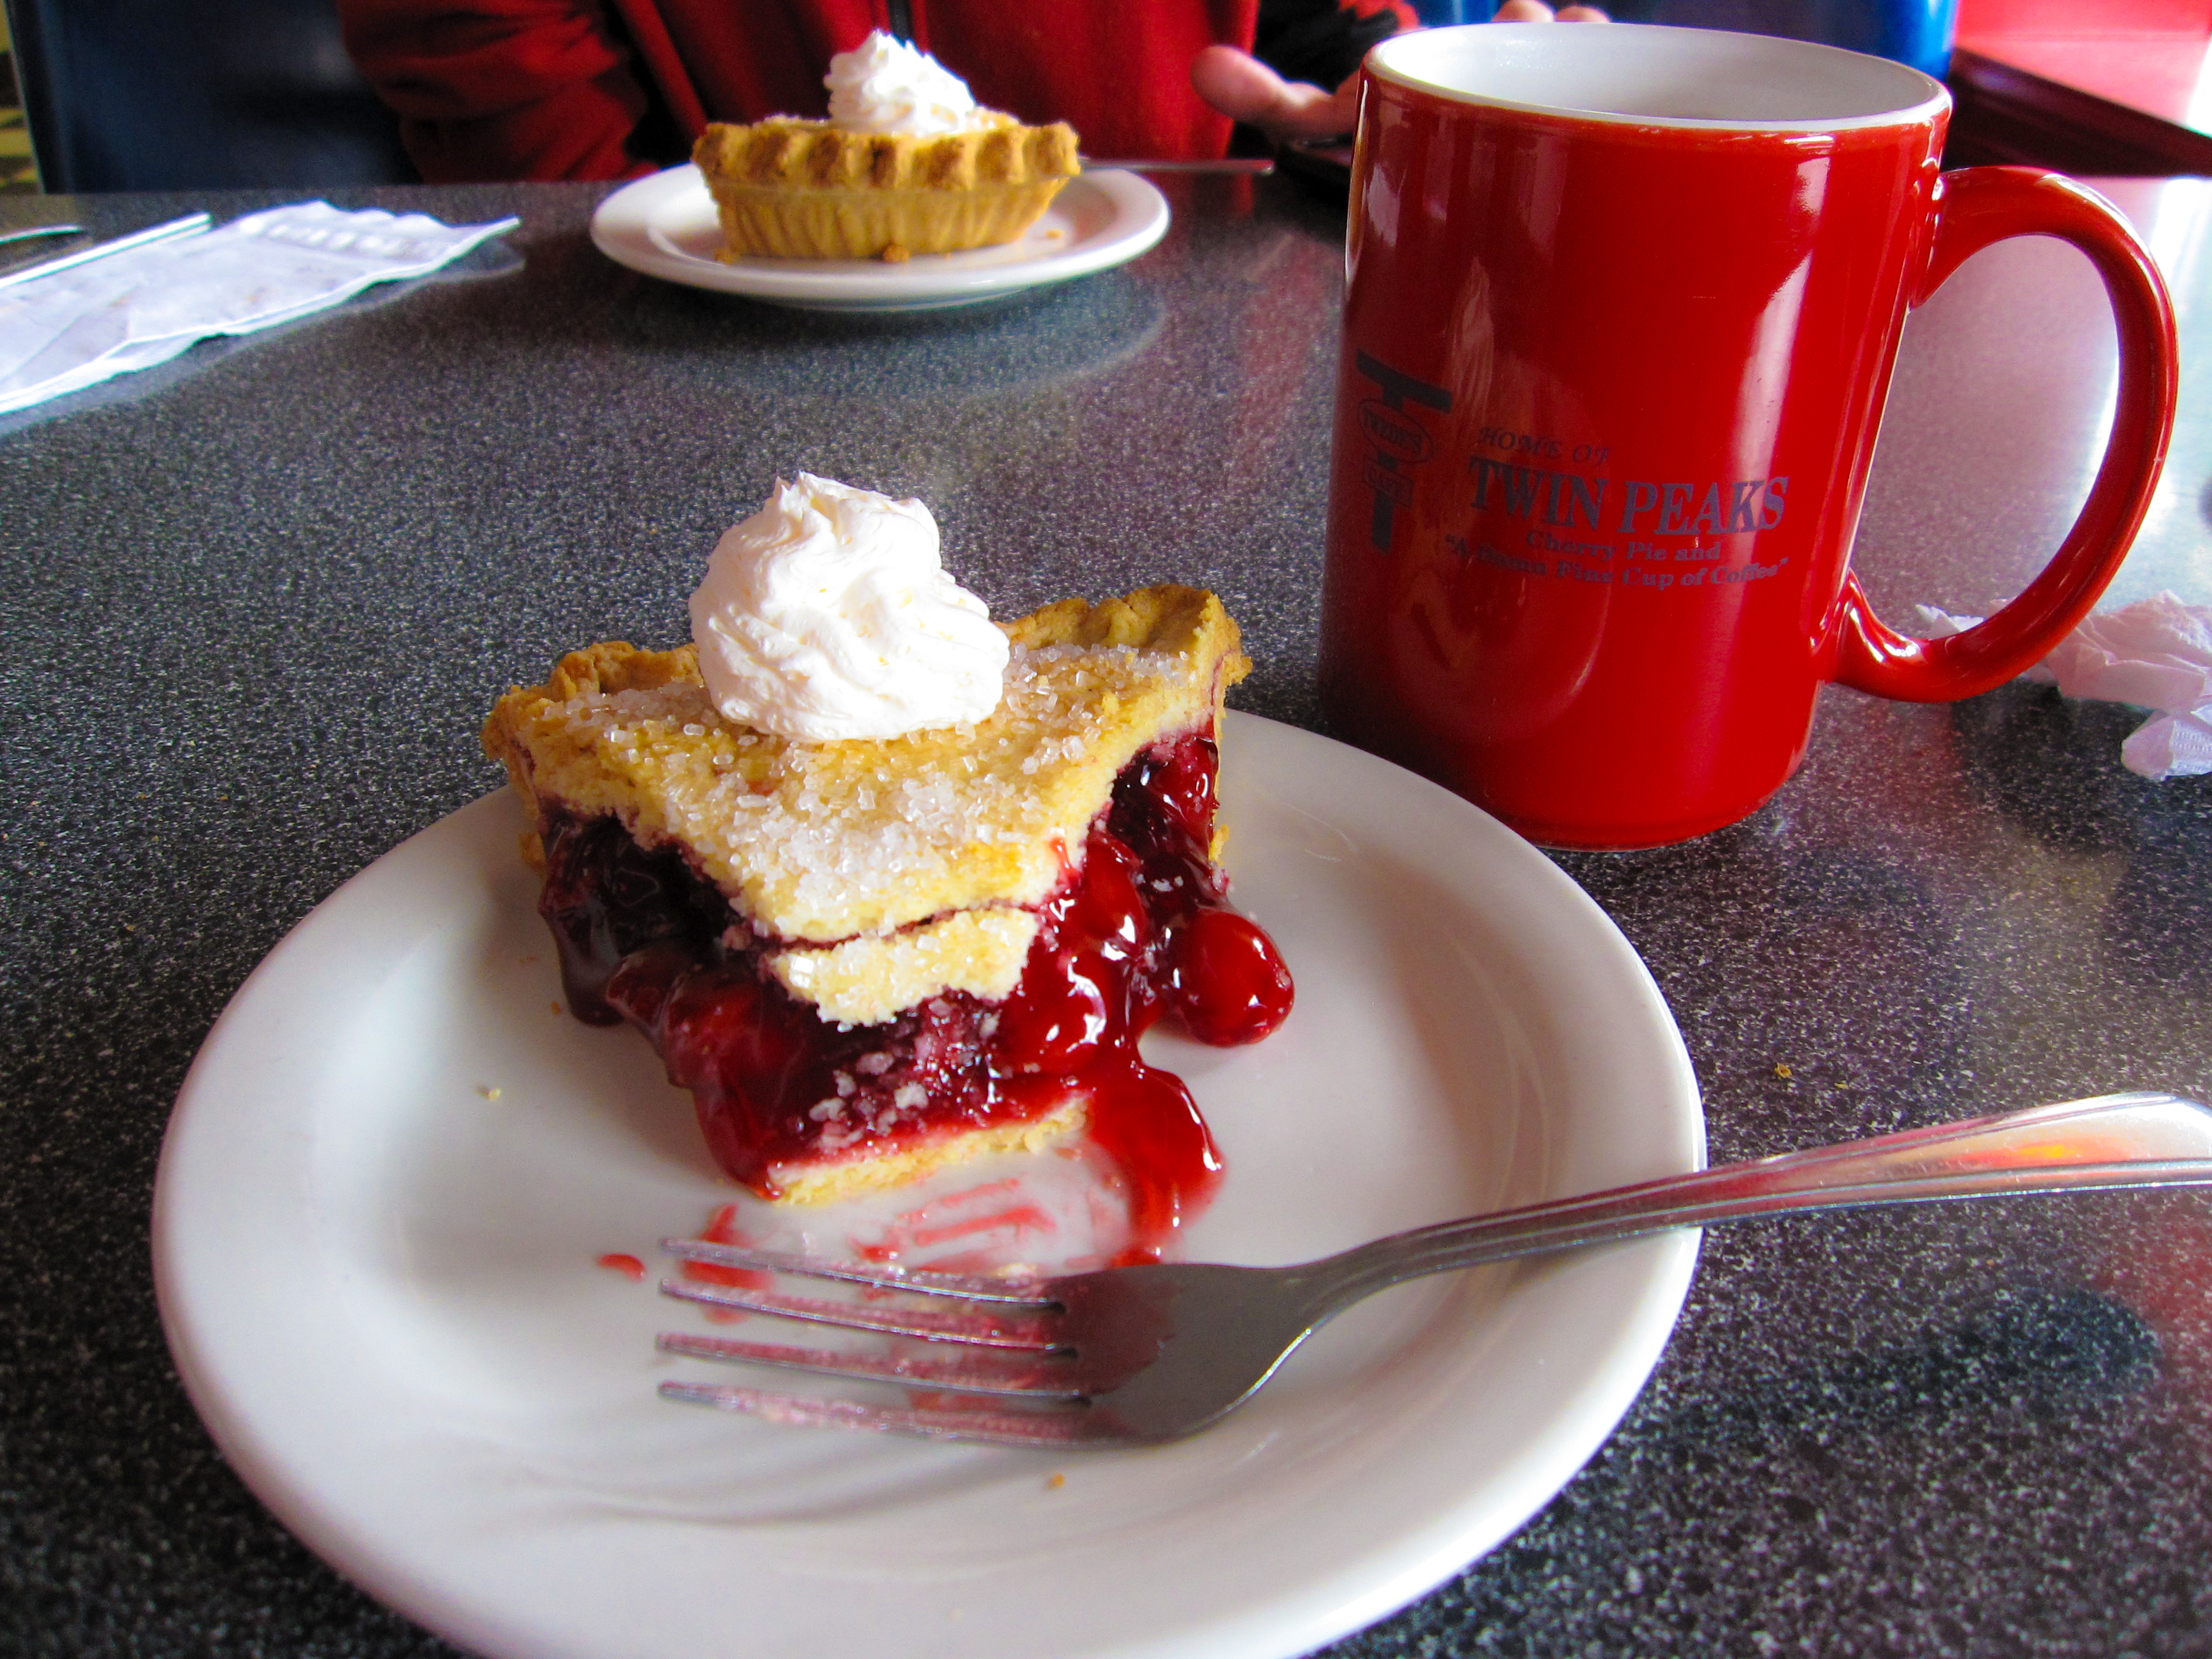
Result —
M1524 841L1252 717L1223 796L1298 1006L1252 1048L1150 1044L1230 1164L1190 1256L1294 1261L1701 1164L1657 987ZM462 1648L1283 1659L1506 1537L1666 1345L1694 1234L1394 1290L1146 1451L661 1402L697 1363L653 1332L695 1310L593 1263L730 1190L646 1044L555 1011L520 827L478 801L301 922L201 1048L155 1190L168 1340L232 1467Z

